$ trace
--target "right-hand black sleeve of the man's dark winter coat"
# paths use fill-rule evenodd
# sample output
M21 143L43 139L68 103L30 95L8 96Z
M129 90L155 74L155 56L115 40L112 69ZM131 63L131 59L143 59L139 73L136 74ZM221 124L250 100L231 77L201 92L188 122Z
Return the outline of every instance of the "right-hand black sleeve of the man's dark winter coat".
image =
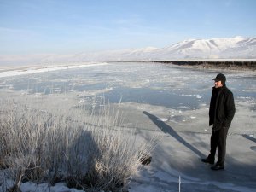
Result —
M231 121L234 118L234 115L236 112L234 96L232 92L230 92L227 96L224 110L225 110L225 118L224 118L223 127L230 127Z

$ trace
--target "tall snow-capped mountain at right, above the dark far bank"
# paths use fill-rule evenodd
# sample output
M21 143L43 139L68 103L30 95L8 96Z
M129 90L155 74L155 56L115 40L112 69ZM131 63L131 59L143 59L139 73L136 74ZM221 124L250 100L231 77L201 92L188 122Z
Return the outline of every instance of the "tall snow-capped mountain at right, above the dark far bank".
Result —
M191 39L161 49L160 54L166 59L256 58L256 38Z

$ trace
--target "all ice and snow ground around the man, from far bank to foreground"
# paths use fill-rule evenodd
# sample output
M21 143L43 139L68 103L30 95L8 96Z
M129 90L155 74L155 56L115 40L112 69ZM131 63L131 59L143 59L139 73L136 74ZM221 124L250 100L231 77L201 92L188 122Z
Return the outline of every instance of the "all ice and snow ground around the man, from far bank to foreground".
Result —
M255 72L222 71L235 96L236 115L227 139L224 171L214 172L201 158L209 153L208 104L212 79L220 71L155 63L99 63L38 70L26 70L19 76L14 71L0 73L1 98L29 99L35 105L38 101L52 104L54 98L56 108L63 107L63 102L66 108L95 105L102 96L113 105L121 99L122 126L148 141L160 136L152 163L142 166L134 176L130 192L178 191L179 177L180 191L255 191ZM65 183L23 183L21 190L79 191L68 189Z

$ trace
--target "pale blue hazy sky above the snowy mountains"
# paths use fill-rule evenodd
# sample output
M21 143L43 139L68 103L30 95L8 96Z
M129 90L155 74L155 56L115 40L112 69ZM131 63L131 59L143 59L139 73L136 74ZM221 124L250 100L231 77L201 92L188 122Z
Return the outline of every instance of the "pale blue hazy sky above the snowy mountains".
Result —
M0 55L256 36L255 0L0 0Z

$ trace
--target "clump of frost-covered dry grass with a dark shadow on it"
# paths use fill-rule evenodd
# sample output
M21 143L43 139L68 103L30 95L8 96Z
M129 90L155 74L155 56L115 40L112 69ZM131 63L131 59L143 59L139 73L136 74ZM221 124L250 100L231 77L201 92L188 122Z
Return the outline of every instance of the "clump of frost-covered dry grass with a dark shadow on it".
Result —
M119 126L119 111L107 106L94 108L88 119L84 110L58 114L1 100L2 190L19 191L25 181L63 181L86 191L125 189L156 140L139 143L133 131Z

